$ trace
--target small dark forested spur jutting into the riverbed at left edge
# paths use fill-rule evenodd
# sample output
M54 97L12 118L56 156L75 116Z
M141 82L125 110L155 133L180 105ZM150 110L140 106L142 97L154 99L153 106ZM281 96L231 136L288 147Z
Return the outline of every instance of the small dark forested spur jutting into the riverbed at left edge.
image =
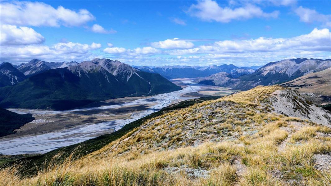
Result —
M13 130L19 129L24 124L33 121L31 114L17 114L9 110L0 108L0 137L14 134Z

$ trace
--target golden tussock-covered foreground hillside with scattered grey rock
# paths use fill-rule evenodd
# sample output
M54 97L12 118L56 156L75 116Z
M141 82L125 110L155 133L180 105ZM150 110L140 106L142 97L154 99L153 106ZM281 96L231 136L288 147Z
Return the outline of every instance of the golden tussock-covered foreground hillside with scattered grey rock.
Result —
M283 89L259 86L160 113L76 161L50 162L31 178L20 178L13 167L2 169L0 181L86 186L330 185L330 172L317 170L313 156L331 153L331 138L324 135L331 129L272 113L268 98ZM210 177L192 176L187 169L209 171Z

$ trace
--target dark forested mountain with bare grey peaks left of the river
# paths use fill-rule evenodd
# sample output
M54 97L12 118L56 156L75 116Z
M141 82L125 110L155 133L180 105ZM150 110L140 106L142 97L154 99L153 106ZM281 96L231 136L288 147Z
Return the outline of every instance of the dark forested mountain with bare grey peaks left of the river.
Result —
M110 59L55 69L49 64L33 59L21 65L19 69L28 77L17 85L0 88L1 107L63 110L94 101L181 90L159 74Z

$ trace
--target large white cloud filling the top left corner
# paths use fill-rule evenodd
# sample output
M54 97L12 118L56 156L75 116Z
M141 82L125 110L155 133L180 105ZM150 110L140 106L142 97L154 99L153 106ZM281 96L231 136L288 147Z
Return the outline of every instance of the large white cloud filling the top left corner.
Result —
M29 26L80 26L94 20L94 16L85 9L73 11L59 6L54 7L30 1L10 1L0 4L2 24Z

